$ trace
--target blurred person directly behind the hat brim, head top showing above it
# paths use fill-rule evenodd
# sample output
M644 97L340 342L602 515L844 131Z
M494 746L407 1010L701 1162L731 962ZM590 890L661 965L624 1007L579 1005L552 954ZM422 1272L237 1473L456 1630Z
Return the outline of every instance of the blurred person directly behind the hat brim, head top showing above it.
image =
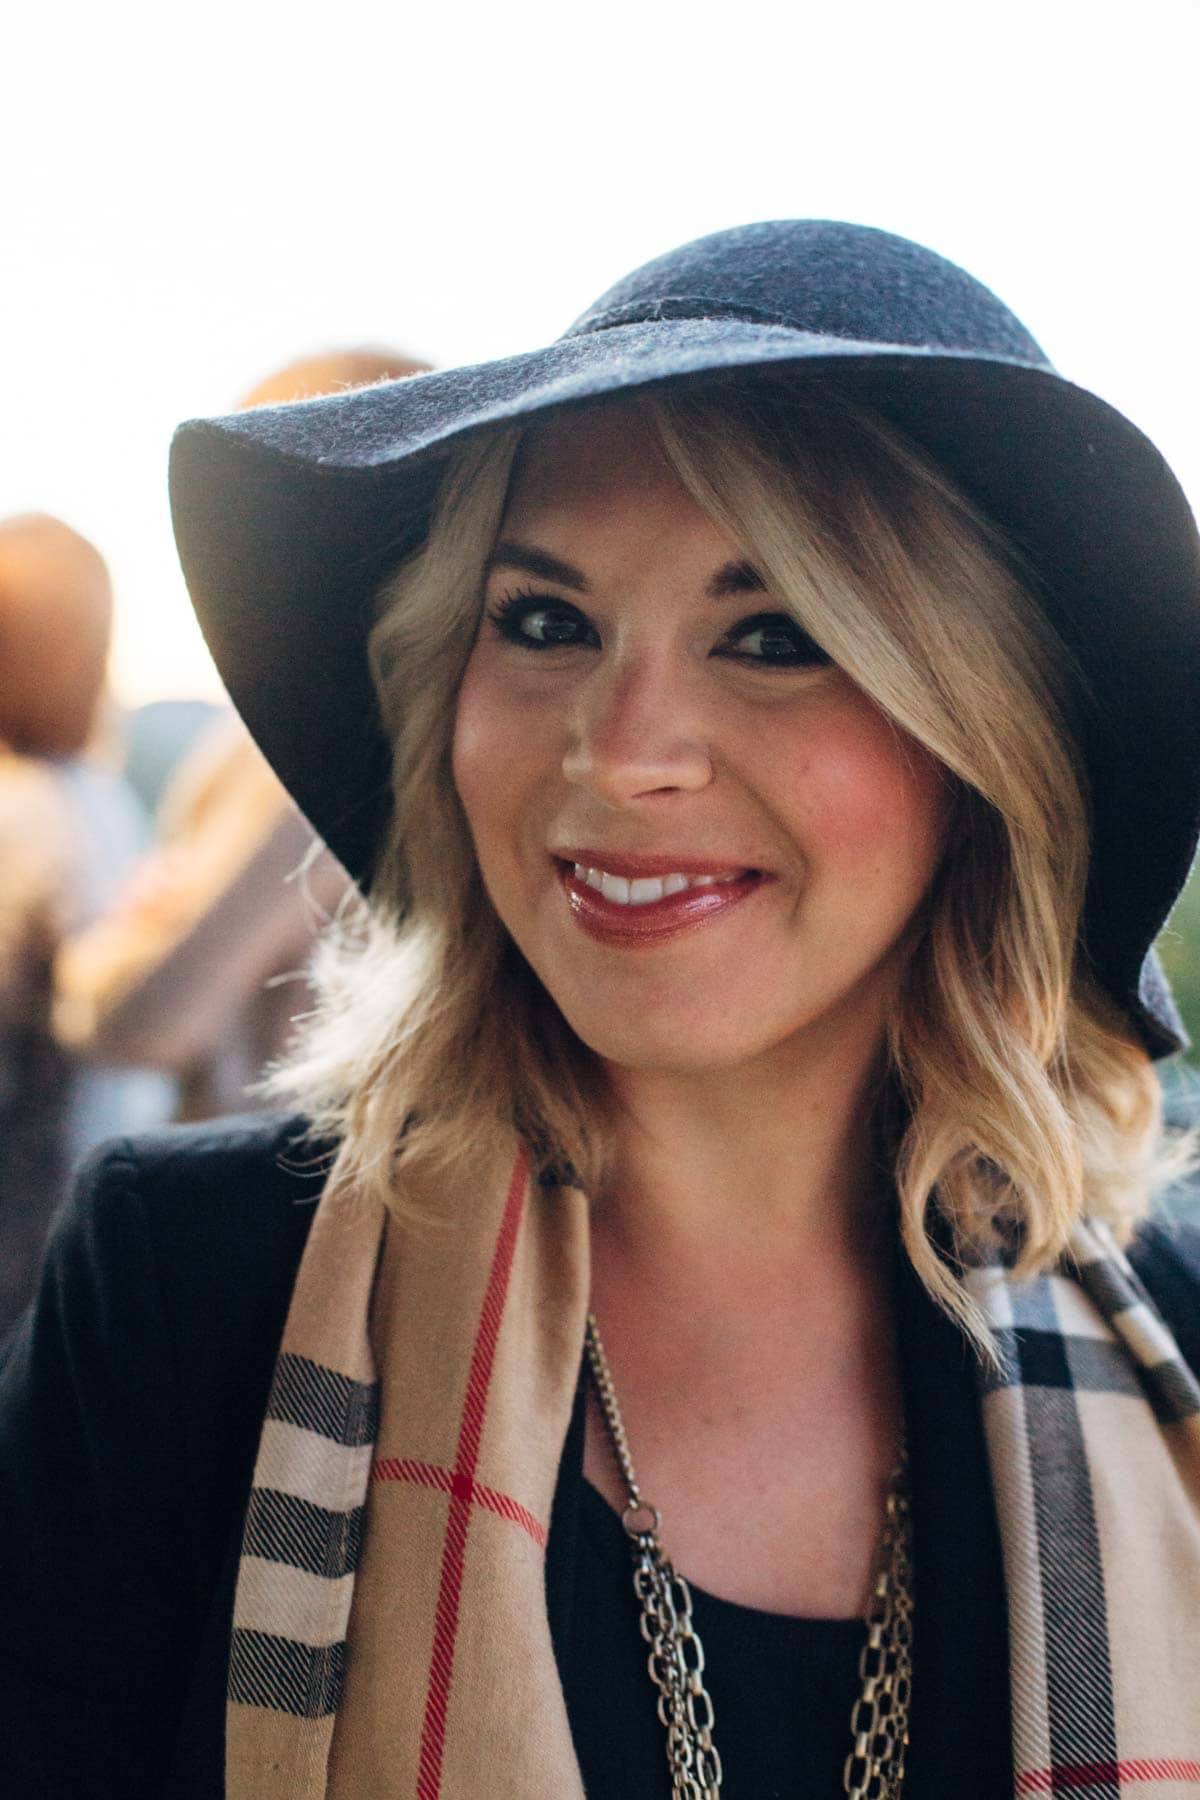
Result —
M266 376L241 407L425 367L403 351L327 351ZM58 1037L171 1073L180 1118L243 1111L309 1004L313 940L349 884L225 713L201 725L166 783L157 837L110 911L58 952Z

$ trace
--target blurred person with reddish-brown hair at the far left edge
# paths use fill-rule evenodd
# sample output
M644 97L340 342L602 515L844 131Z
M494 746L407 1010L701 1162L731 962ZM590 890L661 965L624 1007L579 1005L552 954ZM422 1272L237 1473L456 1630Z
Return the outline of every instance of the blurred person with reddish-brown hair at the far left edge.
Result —
M173 1082L85 1067L50 1031L56 947L112 905L148 839L99 731L110 632L95 545L43 513L0 520L0 1332L81 1157L175 1102Z

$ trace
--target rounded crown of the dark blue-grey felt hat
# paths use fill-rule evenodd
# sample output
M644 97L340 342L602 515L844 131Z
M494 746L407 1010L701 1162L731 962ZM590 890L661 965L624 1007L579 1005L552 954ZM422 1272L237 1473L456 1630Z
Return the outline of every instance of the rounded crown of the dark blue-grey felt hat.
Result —
M565 337L653 319L747 319L1049 369L1020 319L957 263L837 220L775 220L696 238L615 283Z

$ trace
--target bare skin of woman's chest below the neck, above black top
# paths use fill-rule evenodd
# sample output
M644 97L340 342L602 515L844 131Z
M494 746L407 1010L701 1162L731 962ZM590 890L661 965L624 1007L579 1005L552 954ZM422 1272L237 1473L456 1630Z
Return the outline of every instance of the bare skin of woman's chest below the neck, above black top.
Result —
M633 1467L675 1566L741 1606L860 1616L901 1440L882 1285L838 1294L826 1283L808 1303L759 1287L705 1310L615 1285L610 1273L601 1255L594 1307ZM583 1467L621 1510L594 1391Z

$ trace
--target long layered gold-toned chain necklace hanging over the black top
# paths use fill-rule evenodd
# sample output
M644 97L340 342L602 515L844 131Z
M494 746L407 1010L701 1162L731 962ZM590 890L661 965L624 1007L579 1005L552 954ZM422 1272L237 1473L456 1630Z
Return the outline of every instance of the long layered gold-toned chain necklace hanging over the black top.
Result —
M658 1719L667 1733L671 1795L673 1800L720 1800L721 1757L712 1741L716 1721L703 1683L703 1645L693 1624L691 1588L664 1553L658 1508L644 1499L637 1483L608 1357L592 1314L587 1352L608 1440L628 1492L621 1523L633 1550L633 1593L642 1607L640 1627L649 1645L646 1667L658 1690ZM849 1800L900 1800L912 1696L912 1516L903 1449L887 1494L858 1681L842 1789Z

